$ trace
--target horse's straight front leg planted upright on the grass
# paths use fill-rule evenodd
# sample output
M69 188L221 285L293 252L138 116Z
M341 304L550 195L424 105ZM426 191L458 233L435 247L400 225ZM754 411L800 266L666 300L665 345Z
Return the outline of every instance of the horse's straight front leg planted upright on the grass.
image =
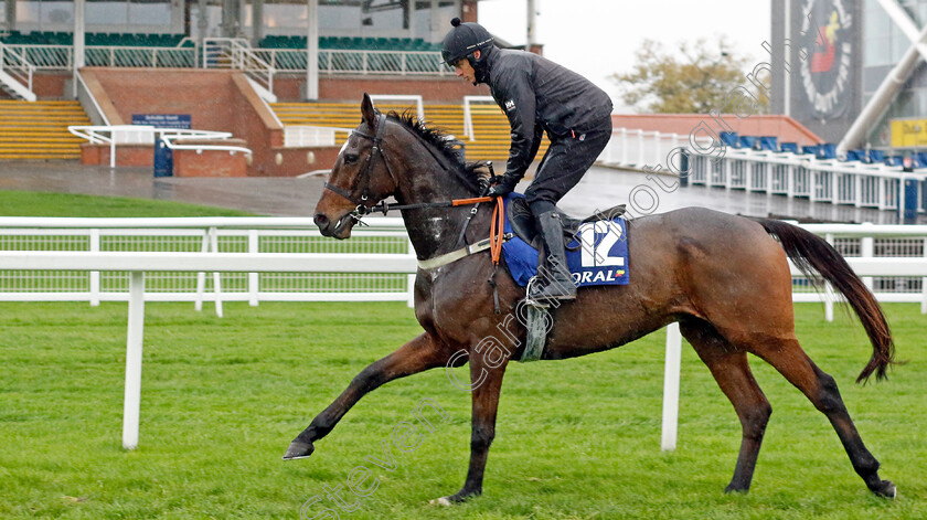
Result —
M498 352L498 351L497 351ZM499 362L497 362L499 361ZM472 418L470 429L470 467L460 491L433 502L449 506L482 494L483 471L489 446L496 437L496 411L505 373L508 355L497 357L492 350L470 352L470 385L472 388Z

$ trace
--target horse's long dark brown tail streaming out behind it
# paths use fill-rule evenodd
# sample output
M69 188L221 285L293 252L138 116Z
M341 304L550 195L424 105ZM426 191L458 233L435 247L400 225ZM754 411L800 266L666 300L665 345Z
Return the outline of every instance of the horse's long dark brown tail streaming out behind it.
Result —
M825 240L801 227L777 220L755 220L767 233L779 240L788 257L808 279L819 287L822 278L829 282L860 317L872 342L872 358L856 382L867 381L873 372L877 380L885 379L885 371L895 357L895 342L892 340L888 321L878 301L843 256Z

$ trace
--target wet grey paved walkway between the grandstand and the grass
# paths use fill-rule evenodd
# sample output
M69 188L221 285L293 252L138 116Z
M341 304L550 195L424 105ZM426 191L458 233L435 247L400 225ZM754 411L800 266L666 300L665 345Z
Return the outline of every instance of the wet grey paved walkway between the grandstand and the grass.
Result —
M134 197L232 208L262 215L311 216L321 197L323 179L295 178L160 178L151 168L82 166L76 162L0 162L0 190L52 191L94 195ZM522 184L520 188L524 188ZM755 216L776 215L820 221L897 223L894 212L811 203L718 188L675 187L670 178L595 167L567 194L561 206L574 215L588 215L635 194L636 215L653 206L663 213L689 205ZM656 199L653 195L657 195ZM2 209L0 209L2 214ZM927 217L918 217L927 223Z

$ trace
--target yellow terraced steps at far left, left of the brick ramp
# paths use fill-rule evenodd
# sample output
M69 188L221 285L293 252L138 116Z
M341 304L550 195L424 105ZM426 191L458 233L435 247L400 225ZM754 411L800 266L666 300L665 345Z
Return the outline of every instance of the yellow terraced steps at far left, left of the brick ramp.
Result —
M79 137L70 125L89 125L78 102L0 99L0 160L79 159Z

